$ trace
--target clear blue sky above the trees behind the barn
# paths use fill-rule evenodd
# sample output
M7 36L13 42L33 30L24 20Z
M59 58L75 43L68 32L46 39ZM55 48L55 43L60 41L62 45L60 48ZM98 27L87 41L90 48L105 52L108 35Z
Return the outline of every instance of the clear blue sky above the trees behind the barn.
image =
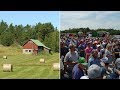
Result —
M0 11L0 21L13 25L36 25L51 22L59 29L59 11Z

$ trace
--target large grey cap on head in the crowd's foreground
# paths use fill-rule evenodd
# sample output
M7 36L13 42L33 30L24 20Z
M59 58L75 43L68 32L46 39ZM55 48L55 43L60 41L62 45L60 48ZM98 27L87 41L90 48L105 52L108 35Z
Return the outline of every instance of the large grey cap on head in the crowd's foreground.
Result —
M96 79L98 77L101 77L102 73L102 69L96 65L96 64L92 64L89 68L88 68L88 78L90 79Z

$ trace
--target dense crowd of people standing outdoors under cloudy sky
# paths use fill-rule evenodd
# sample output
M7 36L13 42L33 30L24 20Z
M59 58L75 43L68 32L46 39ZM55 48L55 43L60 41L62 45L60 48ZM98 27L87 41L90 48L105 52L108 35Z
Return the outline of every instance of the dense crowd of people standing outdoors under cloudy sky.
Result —
M110 35L60 36L61 79L120 79L120 40Z

